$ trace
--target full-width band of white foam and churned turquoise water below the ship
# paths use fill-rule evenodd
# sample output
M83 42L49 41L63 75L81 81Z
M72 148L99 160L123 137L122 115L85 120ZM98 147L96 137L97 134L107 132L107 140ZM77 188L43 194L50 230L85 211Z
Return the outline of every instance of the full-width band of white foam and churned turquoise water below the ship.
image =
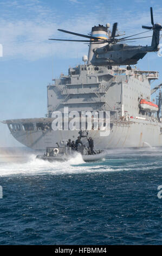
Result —
M139 150L108 150L108 159L99 162L84 162L80 154L68 159L66 162L48 162L36 159L36 154L16 152L2 154L0 152L0 176L9 175L59 175L74 173L95 172L121 172L134 170L148 170L159 167L162 154L160 148ZM139 159L140 156L140 159ZM142 161L146 157L147 161ZM154 161L148 161L148 157L154 157ZM139 161L140 160L140 161Z

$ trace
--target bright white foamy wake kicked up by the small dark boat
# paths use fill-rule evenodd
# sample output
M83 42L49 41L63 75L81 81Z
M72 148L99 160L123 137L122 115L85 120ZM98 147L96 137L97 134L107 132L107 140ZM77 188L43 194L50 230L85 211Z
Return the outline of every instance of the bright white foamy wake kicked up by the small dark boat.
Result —
M14 157L12 157L14 158ZM85 163L80 154L65 162L48 162L41 159L36 159L36 155L31 154L27 159L15 161L0 162L0 176L8 175L44 175L44 174L72 174L72 173L87 173L87 172L102 172L106 168L100 164L92 166ZM111 170L111 169L107 169Z

